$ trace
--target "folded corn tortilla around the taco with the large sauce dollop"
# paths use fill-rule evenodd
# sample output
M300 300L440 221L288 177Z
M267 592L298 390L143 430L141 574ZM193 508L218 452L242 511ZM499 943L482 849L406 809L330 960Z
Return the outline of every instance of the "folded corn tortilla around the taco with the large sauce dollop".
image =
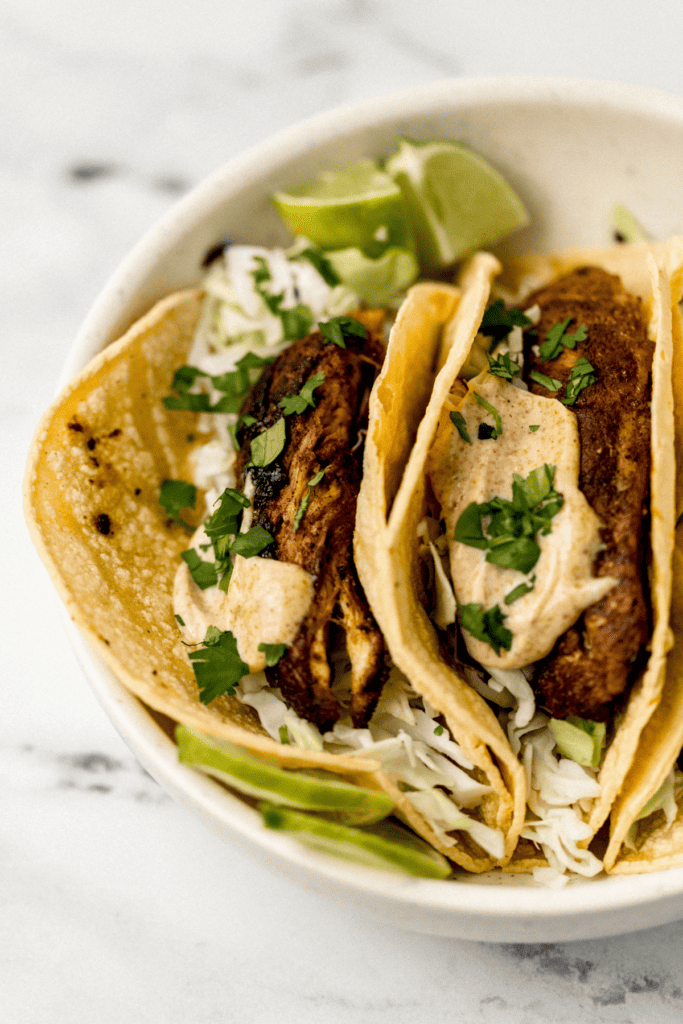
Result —
M629 291L639 295L649 309L649 334L655 341L652 416L652 573L653 634L648 668L633 687L627 709L604 758L598 780L601 796L589 816L594 836L605 821L624 778L631 767L640 734L661 695L666 653L671 646L668 612L672 588L675 465L673 399L671 392L672 302L670 283L679 280L683 266L683 240L654 245L618 246L607 250L570 250L550 256L510 260L495 284L495 292L508 302L521 301L531 289L582 265L601 266L616 273ZM361 582L384 632L392 657L408 677L419 680L421 692L444 715L454 736L468 756L486 774L495 764L508 790L500 797L498 825L507 835L503 863L516 871L531 870L545 857L518 839L526 802L524 772L509 748L498 720L486 702L441 658L436 631L420 603L420 567L417 557L417 526L426 511L425 462L434 439L444 400L467 359L476 329L488 302L500 264L487 254L475 256L462 282L463 299L458 314L444 332L439 365L442 366L417 441L400 482L392 471L386 450L399 415L387 391L387 380L378 380L371 401L371 426L366 447L364 481L356 521L356 561ZM673 287L673 285L671 286ZM677 287L677 286L676 286ZM468 319L469 317L469 319ZM412 338L413 353L407 362L418 366L427 342L418 327ZM399 359L387 360L390 381ZM418 371L416 370L416 373ZM469 739L469 742L468 742ZM679 744L680 745L680 744ZM475 757L478 754L478 759ZM497 795L498 795L498 791ZM642 806L642 804L640 805ZM590 842L587 841L587 843ZM516 852L515 852L516 851ZM514 860L511 858L514 854Z

